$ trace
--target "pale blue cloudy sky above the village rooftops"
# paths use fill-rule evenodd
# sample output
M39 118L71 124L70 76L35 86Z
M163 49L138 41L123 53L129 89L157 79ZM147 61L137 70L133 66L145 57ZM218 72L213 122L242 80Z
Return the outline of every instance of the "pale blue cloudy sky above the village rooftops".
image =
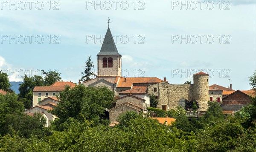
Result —
M209 74L209 85L250 89L256 69L255 0L0 1L0 69L9 80L61 72L78 82L108 28L125 77L166 77L169 83ZM96 68L96 67L95 67Z

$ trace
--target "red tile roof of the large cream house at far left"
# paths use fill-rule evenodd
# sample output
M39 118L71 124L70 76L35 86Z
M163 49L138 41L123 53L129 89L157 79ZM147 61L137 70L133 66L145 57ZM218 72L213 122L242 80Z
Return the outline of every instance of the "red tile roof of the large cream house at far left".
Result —
M50 86L35 86L35 88L33 89L33 92L41 92L41 91L59 92L65 89L65 85L70 86L71 88L76 86L76 84L73 82L57 81Z

